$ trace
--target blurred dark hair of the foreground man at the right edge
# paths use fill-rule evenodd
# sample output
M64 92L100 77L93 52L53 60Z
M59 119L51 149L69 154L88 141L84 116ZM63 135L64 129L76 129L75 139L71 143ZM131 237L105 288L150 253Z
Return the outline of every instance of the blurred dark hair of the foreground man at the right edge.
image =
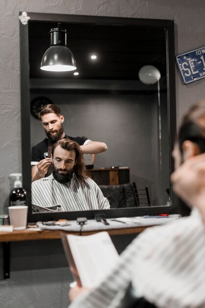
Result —
M194 142L201 153L205 153L205 101L193 105L184 115L179 127L178 143L182 154L185 140Z

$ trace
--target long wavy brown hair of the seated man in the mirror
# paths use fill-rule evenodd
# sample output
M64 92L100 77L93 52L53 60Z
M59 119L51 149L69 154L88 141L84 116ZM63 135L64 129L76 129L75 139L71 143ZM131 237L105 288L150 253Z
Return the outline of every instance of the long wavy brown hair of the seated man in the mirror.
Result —
M77 142L70 139L60 139L56 143L52 145L52 157L54 157L54 151L57 146L60 146L62 149L66 151L74 150L76 152L76 165L74 166L75 175L80 183L85 183L86 175L86 161L83 157L80 146Z

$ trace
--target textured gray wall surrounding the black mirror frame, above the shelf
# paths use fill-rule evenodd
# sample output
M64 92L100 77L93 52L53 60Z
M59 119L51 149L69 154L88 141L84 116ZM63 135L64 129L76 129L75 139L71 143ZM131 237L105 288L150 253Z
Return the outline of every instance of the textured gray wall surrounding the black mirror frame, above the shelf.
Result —
M8 204L8 175L21 172L19 11L174 19L176 52L204 45L203 0L1 0L0 1L0 211ZM177 115L205 96L205 79L185 86L176 68Z

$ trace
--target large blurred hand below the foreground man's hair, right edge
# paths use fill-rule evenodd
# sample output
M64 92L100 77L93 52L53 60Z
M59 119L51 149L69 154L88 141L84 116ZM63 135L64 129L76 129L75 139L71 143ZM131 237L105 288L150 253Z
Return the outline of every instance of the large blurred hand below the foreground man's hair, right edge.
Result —
M171 175L173 190L205 217L205 154L187 159Z

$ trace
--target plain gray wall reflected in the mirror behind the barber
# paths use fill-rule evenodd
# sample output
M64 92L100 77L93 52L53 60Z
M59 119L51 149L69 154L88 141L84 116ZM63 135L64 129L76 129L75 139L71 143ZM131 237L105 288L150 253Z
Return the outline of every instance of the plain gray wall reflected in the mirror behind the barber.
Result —
M156 86L157 87L157 86ZM42 94L31 95L31 99ZM164 192L162 203L168 196L165 188L169 186L169 168L163 169L163 187L159 183L159 138L157 94L49 94L44 96L60 107L65 116L63 126L70 136L87 136L93 141L105 142L108 150L96 155L95 167L128 166L130 182L138 188L148 185L151 204L161 205L161 190ZM161 104L164 100L161 95ZM165 106L166 107L166 106ZM163 126L161 130L167 136L167 108L162 109ZM45 138L45 132L39 120L32 115L31 145ZM169 166L169 147L163 142L164 165Z

